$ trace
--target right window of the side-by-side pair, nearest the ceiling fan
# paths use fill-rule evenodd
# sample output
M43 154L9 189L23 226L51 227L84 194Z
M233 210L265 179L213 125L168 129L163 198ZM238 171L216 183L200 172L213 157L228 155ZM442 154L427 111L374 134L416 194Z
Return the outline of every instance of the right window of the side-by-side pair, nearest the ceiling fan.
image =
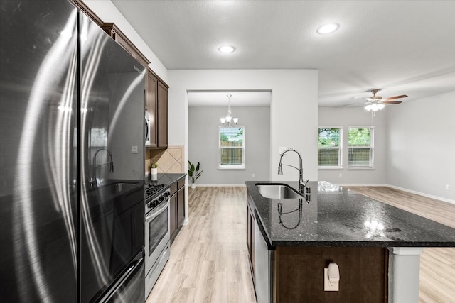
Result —
M349 126L349 168L373 168L372 126Z

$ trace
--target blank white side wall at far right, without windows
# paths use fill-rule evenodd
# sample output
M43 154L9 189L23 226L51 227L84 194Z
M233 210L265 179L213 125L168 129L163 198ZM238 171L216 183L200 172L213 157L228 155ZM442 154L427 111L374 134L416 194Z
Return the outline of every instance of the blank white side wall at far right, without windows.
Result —
M387 107L387 126L387 183L455 202L455 91Z

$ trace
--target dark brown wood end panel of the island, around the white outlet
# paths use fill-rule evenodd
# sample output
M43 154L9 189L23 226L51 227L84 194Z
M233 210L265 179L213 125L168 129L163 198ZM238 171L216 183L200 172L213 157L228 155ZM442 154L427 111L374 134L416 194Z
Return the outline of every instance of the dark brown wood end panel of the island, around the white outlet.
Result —
M338 292L325 292L323 268L338 264ZM277 247L274 302L385 303L388 251L381 247Z

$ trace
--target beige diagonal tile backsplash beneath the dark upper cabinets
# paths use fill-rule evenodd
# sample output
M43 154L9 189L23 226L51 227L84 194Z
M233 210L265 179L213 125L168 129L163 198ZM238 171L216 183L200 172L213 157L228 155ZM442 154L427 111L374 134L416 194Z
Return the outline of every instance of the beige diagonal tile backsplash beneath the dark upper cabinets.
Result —
M146 150L146 175L150 173L150 165L155 162L158 165L159 173L183 173L184 146L168 146L166 150Z

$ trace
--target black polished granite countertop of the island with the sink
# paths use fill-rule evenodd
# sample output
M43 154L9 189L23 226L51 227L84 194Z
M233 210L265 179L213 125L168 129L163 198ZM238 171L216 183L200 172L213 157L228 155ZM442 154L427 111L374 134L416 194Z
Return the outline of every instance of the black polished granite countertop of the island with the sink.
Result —
M306 199L268 199L247 181L248 203L269 248L274 246L455 247L455 228L324 181ZM279 206L279 204L282 204ZM281 215L279 214L281 208Z

